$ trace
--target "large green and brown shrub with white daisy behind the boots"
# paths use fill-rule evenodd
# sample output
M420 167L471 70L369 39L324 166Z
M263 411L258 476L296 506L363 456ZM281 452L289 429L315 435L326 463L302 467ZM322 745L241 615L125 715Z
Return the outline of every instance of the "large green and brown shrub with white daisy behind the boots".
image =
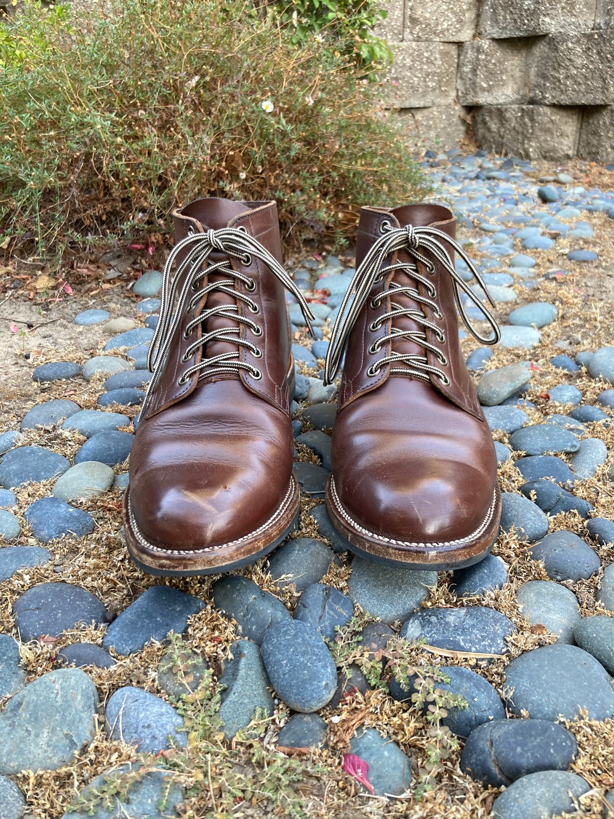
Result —
M337 241L360 204L421 195L377 85L251 11L30 2L0 26L0 245L84 255L164 231L176 203L206 196L275 198L294 241Z

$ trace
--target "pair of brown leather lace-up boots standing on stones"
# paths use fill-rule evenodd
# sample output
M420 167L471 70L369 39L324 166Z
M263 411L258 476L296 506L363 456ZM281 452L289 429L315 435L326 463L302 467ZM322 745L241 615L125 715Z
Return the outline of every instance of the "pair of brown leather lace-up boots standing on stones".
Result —
M253 563L295 525L286 292L313 319L282 267L275 202L202 199L174 223L124 499L130 554L167 576ZM499 528L494 446L454 305L481 342L499 329L454 269L456 251L485 290L455 228L441 206L363 207L326 361L331 382L345 353L328 514L356 554L408 568L476 563Z

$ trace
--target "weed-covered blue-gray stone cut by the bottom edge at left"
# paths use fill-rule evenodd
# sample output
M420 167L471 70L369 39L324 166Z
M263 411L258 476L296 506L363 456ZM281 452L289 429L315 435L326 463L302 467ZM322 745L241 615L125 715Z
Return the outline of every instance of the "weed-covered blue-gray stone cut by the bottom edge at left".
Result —
M101 794L109 795L101 803ZM185 789L166 768L142 767L138 762L120 765L96 776L79 794L62 819L161 819L174 817L185 799ZM95 808L88 805L94 804ZM84 807L85 806L85 807ZM163 806L160 812L160 806Z

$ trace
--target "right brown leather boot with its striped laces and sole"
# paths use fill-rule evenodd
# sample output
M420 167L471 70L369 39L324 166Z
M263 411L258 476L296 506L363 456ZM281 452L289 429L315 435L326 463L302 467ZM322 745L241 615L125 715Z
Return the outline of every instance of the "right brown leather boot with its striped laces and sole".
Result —
M345 351L328 513L356 554L413 568L476 563L499 529L497 461L455 304L481 342L497 342L499 328L454 269L457 251L484 288L455 229L436 205L361 210L357 270L326 363L330 382ZM460 290L494 337L472 328Z

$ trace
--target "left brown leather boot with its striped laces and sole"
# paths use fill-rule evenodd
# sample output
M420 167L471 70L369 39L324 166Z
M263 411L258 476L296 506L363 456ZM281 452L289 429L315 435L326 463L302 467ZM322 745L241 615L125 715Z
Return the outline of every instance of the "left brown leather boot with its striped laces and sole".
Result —
M174 224L124 530L145 571L193 575L252 563L291 531L286 290L313 316L282 268L275 202L201 199Z

